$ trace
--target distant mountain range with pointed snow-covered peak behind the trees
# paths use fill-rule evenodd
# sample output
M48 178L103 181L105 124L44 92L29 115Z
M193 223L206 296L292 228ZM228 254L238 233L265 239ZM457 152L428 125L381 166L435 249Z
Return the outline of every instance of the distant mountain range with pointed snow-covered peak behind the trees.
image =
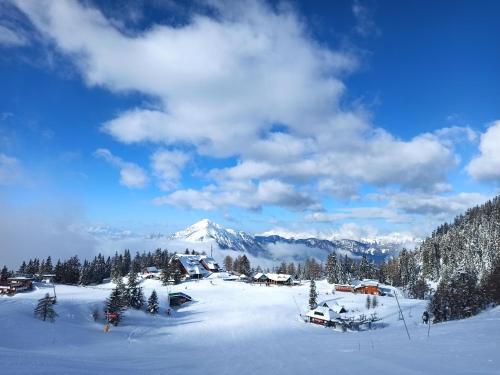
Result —
M210 243L221 250L247 253L255 258L275 261L303 261L308 256L326 259L330 252L358 258L365 255L376 263L383 262L399 253L402 242L351 239L285 238L279 235L252 236L243 231L224 228L203 219L190 227L176 232L170 240L193 244Z

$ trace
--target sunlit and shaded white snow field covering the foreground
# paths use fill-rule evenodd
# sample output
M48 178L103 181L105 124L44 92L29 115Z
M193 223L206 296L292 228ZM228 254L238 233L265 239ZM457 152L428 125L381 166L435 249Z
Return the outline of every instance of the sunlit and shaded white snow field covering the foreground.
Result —
M378 298L384 327L343 333L298 318L299 307L307 310L308 284L214 279L171 286L195 299L172 317L165 314L167 287L154 280L142 285L146 297L158 292L161 315L129 310L108 333L91 312L102 310L112 284L57 286L55 323L33 317L37 299L51 288L0 297L0 373L500 374L500 308L433 325L428 338L420 322L426 302L401 299L410 341L392 297ZM326 282L317 285L319 301L365 309L366 296L331 295Z

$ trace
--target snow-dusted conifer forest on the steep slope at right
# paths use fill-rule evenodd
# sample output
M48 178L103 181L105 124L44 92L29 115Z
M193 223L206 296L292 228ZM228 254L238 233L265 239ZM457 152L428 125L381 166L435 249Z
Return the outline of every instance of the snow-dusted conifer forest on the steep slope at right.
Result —
M381 267L382 282L423 298L434 322L477 314L500 304L500 197L439 226L414 252L403 251Z

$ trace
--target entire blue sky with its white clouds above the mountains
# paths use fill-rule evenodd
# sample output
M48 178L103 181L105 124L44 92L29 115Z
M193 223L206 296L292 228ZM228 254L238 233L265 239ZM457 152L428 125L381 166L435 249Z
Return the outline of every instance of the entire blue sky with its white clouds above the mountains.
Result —
M103 3L0 3L4 247L425 236L498 191L498 2Z

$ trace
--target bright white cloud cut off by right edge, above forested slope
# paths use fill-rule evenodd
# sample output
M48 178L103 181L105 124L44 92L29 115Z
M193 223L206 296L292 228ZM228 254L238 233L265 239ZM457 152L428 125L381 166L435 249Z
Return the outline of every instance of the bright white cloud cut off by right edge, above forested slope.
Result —
M500 182L500 121L481 135L479 151L467 166L469 174L480 181Z

